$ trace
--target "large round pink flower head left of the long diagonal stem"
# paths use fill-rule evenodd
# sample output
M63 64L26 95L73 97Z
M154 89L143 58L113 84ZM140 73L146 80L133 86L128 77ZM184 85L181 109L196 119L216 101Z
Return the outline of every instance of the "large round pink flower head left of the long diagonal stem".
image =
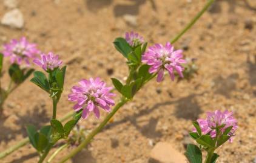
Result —
M99 118L99 108L110 112L110 106L115 105L111 97L115 94L110 93L112 87L106 87L106 83L99 77L83 79L79 82L80 86L73 86L72 93L69 94L69 101L76 101L73 107L76 111L83 109L82 117L87 118L89 112L94 112L96 118Z

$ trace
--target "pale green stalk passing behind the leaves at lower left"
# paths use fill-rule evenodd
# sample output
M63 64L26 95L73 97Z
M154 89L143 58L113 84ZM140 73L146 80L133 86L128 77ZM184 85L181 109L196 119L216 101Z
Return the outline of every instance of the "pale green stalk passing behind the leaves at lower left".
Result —
M70 111L69 113L67 113L66 115L64 115L64 117L60 118L59 121L63 122L68 120L70 117L72 117L74 114L73 111ZM4 150L3 152L0 153L0 159L5 158L6 156L10 155L11 153L15 152L15 150L18 150L19 148L23 147L24 145L26 145L27 143L29 143L29 138L24 138L21 141L19 141L18 144L13 145L12 147L8 148L7 150Z

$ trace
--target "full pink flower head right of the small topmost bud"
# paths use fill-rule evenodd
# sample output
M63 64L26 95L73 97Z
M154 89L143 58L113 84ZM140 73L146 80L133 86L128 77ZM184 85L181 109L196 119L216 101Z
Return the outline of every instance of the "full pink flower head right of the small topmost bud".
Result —
M149 73L157 72L157 82L163 81L164 69L169 72L170 78L174 80L176 71L180 77L183 77L183 66L181 63L186 63L186 60L182 59L182 50L174 50L173 46L169 42L165 46L160 43L155 46L150 46L149 49L143 54L142 62L151 66Z

